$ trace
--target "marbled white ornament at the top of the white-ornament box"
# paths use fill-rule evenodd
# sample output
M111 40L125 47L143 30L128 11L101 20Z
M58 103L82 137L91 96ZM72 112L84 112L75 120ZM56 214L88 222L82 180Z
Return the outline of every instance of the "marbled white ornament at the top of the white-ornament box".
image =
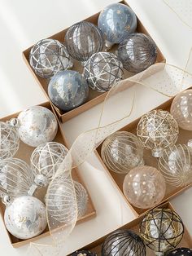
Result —
M22 111L17 120L20 139L29 146L37 147L55 139L58 124L50 109L33 106Z

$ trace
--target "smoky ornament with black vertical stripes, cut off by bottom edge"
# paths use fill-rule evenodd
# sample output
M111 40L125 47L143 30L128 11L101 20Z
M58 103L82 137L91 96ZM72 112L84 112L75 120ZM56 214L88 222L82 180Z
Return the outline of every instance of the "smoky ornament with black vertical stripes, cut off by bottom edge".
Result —
M102 246L102 256L145 256L146 246L140 236L131 230L117 230L107 236Z

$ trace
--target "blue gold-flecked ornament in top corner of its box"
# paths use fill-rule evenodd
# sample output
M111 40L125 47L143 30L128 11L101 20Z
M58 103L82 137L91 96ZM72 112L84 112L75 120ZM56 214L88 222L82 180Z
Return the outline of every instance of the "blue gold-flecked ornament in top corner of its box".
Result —
M137 28L137 17L130 7L113 3L104 8L98 16L98 28L107 38L106 46L120 43Z

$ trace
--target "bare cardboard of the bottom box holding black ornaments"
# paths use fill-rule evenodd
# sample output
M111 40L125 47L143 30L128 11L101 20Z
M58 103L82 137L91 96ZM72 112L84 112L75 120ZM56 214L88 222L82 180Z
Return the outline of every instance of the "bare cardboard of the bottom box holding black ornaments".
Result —
M169 203L169 202L166 202L163 205L159 205L158 208L174 210L171 203ZM133 232L136 232L137 234L139 234L138 228L139 228L139 223L141 223L141 221L142 221L142 218L143 218L143 215L141 215L140 217L134 219L132 222L125 224L124 226L122 226L118 229L131 229L131 230L133 230ZM190 233L188 232L187 228L186 227L184 227L184 228L185 228L184 236L183 236L180 244L177 245L177 248L179 248L179 247L191 248L192 247L192 237L190 236ZM109 235L110 235L110 233L107 234L107 236L109 236ZM81 248L81 249L88 249L89 251L92 251L92 252L96 253L98 256L100 256L103 242L105 241L107 236L103 236L103 237L99 238L97 241L94 241L93 243L86 245L84 248ZM146 256L154 256L154 255L155 254L153 253L153 251L146 246Z

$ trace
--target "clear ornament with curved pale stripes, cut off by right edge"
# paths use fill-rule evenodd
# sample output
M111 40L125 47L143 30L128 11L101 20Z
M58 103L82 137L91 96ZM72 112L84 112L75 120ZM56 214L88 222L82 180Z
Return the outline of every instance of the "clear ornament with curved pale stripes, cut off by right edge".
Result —
M166 148L159 158L159 170L167 183L182 187L192 183L192 149L186 145Z

